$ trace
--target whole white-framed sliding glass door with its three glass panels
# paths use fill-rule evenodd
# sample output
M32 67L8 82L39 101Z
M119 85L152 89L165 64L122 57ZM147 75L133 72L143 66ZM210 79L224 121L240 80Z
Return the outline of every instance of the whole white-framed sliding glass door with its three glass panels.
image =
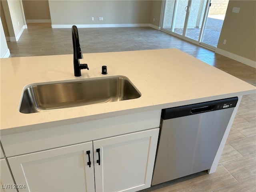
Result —
M209 0L164 1L162 30L199 44Z

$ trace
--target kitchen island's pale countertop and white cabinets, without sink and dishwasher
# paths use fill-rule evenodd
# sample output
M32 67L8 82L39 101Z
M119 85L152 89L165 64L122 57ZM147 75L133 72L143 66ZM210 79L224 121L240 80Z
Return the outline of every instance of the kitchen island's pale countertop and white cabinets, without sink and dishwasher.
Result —
M10 163L16 184L27 186L20 191L28 191L29 185L30 189L37 190L36 186L42 185L40 180L54 172L41 174L42 178L36 180L33 176L40 170L46 170L49 167L52 169L58 164L64 165L67 162L81 161L81 154L84 154L84 162L87 162L85 158L90 155L86 154L87 150L83 150L85 148L90 148L88 151L94 153L95 160L92 160L94 173L93 169L88 170L86 163L82 168L78 165L71 166L66 172L66 174L70 173L71 177L74 176L75 167L79 170L79 175L86 178L81 179L86 182L79 181L83 186L78 186L78 190L91 191L94 186L96 191L124 189L137 191L148 188L152 179L160 115L163 108L235 96L239 98L239 105L242 95L255 92L254 86L178 49L84 54L84 59L80 62L87 63L90 70L82 70L81 77L74 77L72 57L73 55L58 55L1 59L1 143L5 160ZM108 67L107 75L101 74L102 65ZM128 78L141 96L132 100L32 114L19 112L22 92L28 85L116 76ZM210 172L216 170L238 105L232 114ZM105 161L102 160L102 162L103 165L104 162L106 165L111 165L107 170L104 170L104 166L97 164L98 155L100 157L101 152L96 152L96 148L104 149L105 146L110 155L105 153L106 158L103 156ZM134 158L128 158L123 153L120 155L123 158L119 160L127 159L126 162L120 163L118 160L108 162L108 158L115 154L114 148L119 148L118 152L130 151L130 149L136 151L137 146L140 146L139 151L144 150L144 154L135 160L135 164L138 164L136 162L140 159L139 163L144 164L143 168L128 166L129 161ZM114 155L115 159L120 158L117 155L118 152ZM61 161L50 165L45 162L46 160L53 162L52 158L63 157L66 154L76 155L71 160L61 158ZM137 155L137 152L135 154ZM43 165L39 166L39 164ZM118 169L120 170L121 167L124 168L123 172L127 172L125 179L128 180L136 175L129 172L129 169L130 171L138 170L140 174L137 173L138 178L134 177L135 183L120 180L122 177ZM23 173L22 170L26 171ZM56 168L54 174L59 173L60 170L61 168ZM107 180L110 172L116 175ZM142 181L141 178L146 179ZM119 183L119 186L114 186L111 180ZM66 180L60 176L58 183L64 184ZM88 185L88 183L93 184ZM110 183L110 186L105 186L106 183ZM55 189L54 183L47 183L46 186L52 187L50 188L52 190ZM57 189L64 191L64 188ZM72 190L66 187L66 190L68 189Z

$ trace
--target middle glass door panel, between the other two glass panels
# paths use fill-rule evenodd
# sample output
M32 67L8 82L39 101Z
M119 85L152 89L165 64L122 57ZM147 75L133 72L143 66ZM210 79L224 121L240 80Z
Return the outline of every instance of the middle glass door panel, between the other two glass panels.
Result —
M176 0L172 24L172 32L182 35L188 11L189 0Z

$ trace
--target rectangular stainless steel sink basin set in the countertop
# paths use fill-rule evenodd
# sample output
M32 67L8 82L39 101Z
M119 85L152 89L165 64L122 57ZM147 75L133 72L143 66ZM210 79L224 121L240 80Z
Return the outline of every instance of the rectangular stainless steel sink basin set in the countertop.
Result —
M36 113L75 106L139 98L141 94L125 77L54 84L33 84L24 89L20 112Z

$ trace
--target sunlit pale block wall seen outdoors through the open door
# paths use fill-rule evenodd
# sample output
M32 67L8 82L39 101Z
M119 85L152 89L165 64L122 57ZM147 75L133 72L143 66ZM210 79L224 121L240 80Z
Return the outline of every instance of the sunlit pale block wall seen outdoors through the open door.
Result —
M225 15L228 0L211 0L212 6L210 7L208 15Z

